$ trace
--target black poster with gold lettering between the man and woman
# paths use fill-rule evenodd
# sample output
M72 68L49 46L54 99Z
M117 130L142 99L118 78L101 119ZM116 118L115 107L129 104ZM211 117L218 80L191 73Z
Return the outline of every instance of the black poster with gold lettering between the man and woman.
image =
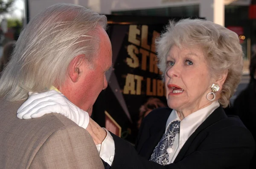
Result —
M106 74L108 87L94 104L92 118L131 144L137 137L140 107L149 98L166 103L155 39L169 19L180 18L108 16L113 68Z

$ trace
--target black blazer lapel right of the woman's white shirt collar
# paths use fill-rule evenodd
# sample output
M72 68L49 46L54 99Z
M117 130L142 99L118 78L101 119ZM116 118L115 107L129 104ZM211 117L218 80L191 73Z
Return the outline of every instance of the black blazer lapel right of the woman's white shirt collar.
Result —
M193 132L193 134L188 138L186 143L183 145L183 147L180 149L180 152L178 153L177 157L175 158L174 163L181 161L184 156L186 155L186 152L189 149L189 146L192 144L192 142L195 140L196 136L207 127L211 126L215 122L227 118L227 115L225 114L222 107L218 107L216 110L212 112L211 115Z

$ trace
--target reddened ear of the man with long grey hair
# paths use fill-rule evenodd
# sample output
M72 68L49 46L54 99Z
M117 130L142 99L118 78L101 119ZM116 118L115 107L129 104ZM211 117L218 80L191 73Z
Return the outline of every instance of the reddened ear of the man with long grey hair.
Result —
M78 55L71 60L69 65L69 77L72 82L77 82L81 76L81 65L84 63L84 55Z

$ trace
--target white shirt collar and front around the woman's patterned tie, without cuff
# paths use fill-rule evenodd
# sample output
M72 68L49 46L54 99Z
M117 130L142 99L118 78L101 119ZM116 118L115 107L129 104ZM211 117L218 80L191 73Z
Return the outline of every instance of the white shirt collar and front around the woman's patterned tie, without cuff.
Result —
M194 113L183 118L180 121L179 116L177 115L176 110L172 110L172 113L169 115L169 118L166 121L166 132L169 128L169 125L172 121L179 120L180 121L180 132L175 135L175 140L172 147L168 148L169 152L169 163L173 163L175 158L177 157L180 149L186 143L188 138L195 132L195 130L212 114L212 112L220 106L218 101L212 102L207 107L204 107ZM166 133L165 132L165 133ZM165 134L164 133L164 134Z

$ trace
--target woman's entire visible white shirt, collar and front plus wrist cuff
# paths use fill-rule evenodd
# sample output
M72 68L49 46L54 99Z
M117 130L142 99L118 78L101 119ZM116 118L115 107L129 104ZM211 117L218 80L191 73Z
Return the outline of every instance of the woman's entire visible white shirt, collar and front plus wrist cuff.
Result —
M177 115L176 110L172 110L172 113L169 115L169 118L166 121L166 131L172 121L180 121L180 132L175 135L175 141L171 148L169 148L169 163L173 163L175 158L182 146L186 143L187 139L192 135L193 132L205 121L205 119L212 114L212 112L220 106L218 101L212 102L207 107L204 107L194 113L183 118L180 121L179 116ZM106 130L107 131L107 130ZM165 132L166 133L166 132ZM164 133L164 134L165 134ZM96 145L99 156L103 161L112 165L114 155L115 155L115 142L112 135L107 131L107 136L102 142L102 144Z

